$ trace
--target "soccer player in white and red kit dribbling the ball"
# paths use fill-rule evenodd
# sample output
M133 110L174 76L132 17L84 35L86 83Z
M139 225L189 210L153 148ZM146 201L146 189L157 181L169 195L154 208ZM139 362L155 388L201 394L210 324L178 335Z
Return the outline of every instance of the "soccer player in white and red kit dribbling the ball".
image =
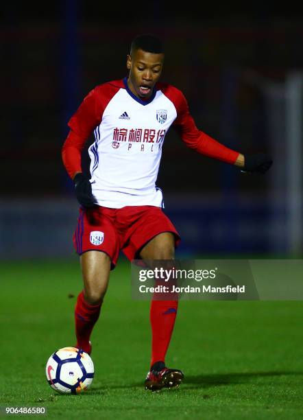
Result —
M96 86L68 123L62 160L80 203L73 242L84 281L75 305L76 347L88 353L119 250L130 260L175 257L180 236L162 211L162 191L156 187L169 127L178 130L189 148L245 172L266 172L272 163L265 154L243 155L198 130L182 92L159 82L164 57L159 38L137 36L127 56L128 76ZM95 143L88 150L87 176L82 172L81 154L92 132ZM178 386L184 377L182 371L165 364L177 310L177 299L151 301L147 389Z

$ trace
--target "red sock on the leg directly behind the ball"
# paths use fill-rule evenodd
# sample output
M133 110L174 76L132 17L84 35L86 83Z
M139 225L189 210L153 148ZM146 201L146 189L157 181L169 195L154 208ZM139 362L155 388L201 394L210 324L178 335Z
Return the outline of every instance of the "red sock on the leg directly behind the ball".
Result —
M75 334L77 337L77 346L90 353L89 344L90 334L97 322L100 314L101 303L90 305L84 299L83 291L77 297L75 305Z

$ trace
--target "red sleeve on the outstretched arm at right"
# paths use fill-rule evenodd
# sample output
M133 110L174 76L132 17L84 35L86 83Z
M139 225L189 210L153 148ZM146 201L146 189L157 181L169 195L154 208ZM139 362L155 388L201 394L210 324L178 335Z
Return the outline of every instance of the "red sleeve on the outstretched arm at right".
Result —
M219 161L232 164L237 161L239 152L227 148L219 141L206 135L205 132L197 129L195 121L189 113L187 101L181 91L168 85L164 93L175 105L177 118L173 122L173 126L179 132L186 146Z

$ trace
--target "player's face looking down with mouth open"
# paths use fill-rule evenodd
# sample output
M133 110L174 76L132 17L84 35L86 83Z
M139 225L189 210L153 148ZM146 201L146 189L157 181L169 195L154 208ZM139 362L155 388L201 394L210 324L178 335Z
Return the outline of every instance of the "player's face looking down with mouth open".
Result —
M130 91L142 100L151 97L154 85L160 79L163 62L164 54L149 53L142 49L137 49L132 56L128 56Z

